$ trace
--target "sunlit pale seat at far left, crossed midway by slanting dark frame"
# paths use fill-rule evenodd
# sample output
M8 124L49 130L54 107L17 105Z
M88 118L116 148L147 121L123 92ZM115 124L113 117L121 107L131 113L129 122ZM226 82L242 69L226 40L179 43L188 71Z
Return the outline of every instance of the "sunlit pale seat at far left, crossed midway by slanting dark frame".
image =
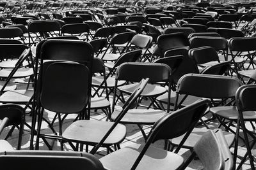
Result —
M0 77L7 78L11 72L12 69L2 69L0 70ZM12 78L22 78L26 76L31 76L32 74L34 74L32 68L20 68L14 73Z

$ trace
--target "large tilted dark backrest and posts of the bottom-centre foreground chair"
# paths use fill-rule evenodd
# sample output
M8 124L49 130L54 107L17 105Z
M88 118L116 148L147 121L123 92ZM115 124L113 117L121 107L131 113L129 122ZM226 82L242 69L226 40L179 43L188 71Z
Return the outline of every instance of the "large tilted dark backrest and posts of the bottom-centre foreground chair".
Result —
M179 145L179 147L182 146L208 106L209 101L204 99L202 101L197 101L196 103L181 108L180 110L174 111L172 114L161 117L150 130L147 143L141 150L140 155L136 159L131 169L136 169L143 155L145 152L147 152L148 147L154 141L159 139L177 138L182 136L182 134L186 134L185 138L182 139L182 142Z

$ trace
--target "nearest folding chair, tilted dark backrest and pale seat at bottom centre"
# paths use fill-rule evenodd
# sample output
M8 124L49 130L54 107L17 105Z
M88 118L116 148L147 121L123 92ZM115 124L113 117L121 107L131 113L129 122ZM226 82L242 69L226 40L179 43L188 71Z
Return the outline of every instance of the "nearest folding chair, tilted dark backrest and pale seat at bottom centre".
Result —
M202 100L161 117L149 132L145 145L127 146L102 157L100 162L107 169L179 169L184 162L184 159L176 154L179 148L172 153L150 144L159 139L170 139L186 134L180 143L182 146L207 106L208 101Z

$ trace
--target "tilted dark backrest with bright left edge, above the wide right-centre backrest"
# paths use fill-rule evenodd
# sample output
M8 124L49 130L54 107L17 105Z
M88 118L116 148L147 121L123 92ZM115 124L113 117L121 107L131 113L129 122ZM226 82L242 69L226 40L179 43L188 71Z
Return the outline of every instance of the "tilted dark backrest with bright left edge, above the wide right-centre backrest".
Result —
M192 48L189 50L188 55L191 59L195 60L196 64L204 64L210 61L219 61L216 50L211 46Z

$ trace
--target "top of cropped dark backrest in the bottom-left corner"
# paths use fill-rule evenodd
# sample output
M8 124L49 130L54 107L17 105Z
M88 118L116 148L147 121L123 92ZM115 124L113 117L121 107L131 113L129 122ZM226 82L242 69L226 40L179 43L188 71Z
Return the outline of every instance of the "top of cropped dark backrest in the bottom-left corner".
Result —
M63 152L63 151L14 151L0 153L0 161L4 167L20 168L20 169L36 169L43 170L52 169L84 169L84 167L92 170L104 170L100 161L90 153L84 152ZM16 162L17 164L13 164ZM10 166L12 165L12 166ZM28 166L29 165L29 166Z

